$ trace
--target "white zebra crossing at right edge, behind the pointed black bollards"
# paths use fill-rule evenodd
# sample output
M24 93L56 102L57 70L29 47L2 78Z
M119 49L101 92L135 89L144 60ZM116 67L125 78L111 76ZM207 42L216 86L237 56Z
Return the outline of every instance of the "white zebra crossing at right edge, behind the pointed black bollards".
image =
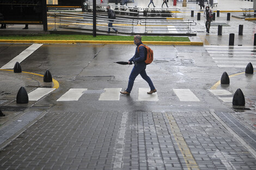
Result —
M249 62L256 65L254 46L204 46L218 67L246 68Z

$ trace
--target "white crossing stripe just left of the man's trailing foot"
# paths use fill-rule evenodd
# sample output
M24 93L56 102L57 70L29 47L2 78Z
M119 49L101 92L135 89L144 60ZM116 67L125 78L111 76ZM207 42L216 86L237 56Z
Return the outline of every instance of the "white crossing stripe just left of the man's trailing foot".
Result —
M121 88L106 88L105 92L100 94L99 100L120 100Z

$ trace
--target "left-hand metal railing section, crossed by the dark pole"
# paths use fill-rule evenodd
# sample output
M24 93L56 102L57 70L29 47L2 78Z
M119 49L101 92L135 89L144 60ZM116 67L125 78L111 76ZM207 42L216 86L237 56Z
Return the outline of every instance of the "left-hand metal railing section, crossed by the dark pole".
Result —
M109 20L113 20L113 27L108 27ZM71 12L54 12L54 26L60 28L93 29L93 15L77 14ZM96 16L96 30L106 31L108 28L116 28L118 32L134 33L134 26L138 20L115 18L109 19L105 16Z

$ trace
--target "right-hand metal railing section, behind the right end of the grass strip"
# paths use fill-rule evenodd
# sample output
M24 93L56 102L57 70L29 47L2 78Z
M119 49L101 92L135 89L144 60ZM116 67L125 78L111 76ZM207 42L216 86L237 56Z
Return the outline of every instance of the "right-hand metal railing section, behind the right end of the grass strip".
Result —
M191 33L191 26L196 26L194 20L142 20L140 23L145 26L145 33Z

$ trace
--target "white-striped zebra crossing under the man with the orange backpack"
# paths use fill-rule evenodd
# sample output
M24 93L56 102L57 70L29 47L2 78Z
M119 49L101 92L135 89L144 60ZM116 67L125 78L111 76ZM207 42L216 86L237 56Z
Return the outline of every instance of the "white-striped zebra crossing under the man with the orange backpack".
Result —
M28 93L29 101L38 101L47 96L56 89L52 88L37 88ZM83 95L97 95L99 101L119 101L121 88L105 88L103 90L88 90L88 89L69 89L57 102L78 101ZM200 102L200 99L190 89L172 89L180 102ZM148 95L149 88L138 89L138 101L159 102L159 96L156 93ZM212 94L218 97L223 102L232 102L233 94L227 90L209 90Z

